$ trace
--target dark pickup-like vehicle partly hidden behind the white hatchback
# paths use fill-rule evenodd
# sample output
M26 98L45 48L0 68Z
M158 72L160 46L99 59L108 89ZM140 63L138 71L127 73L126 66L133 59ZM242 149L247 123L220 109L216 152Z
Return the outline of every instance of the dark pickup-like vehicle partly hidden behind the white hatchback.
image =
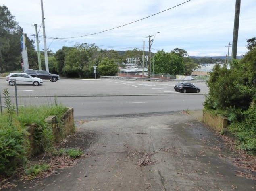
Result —
M58 74L52 74L45 70L32 70L27 69L24 71L24 73L27 73L33 77L39 77L41 79L50 79L52 82L56 82L60 79L60 76Z

